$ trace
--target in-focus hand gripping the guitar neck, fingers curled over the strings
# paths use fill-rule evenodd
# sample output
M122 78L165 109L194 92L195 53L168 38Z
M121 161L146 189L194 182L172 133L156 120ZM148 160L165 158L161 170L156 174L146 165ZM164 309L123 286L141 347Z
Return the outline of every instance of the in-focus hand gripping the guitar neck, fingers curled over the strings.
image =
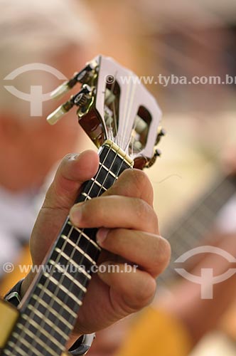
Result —
M152 206L153 191L144 172L127 169L102 197L73 206L82 182L97 172L98 162L93 151L63 159L31 236L33 263L41 264L70 211L75 226L101 228L97 243L104 250L98 264L119 265L119 272L95 273L92 277L80 308L74 339L106 328L148 305L154 298L156 277L170 258L170 246L159 236ZM125 262L139 268L127 273ZM23 295L32 279L29 273L21 288Z

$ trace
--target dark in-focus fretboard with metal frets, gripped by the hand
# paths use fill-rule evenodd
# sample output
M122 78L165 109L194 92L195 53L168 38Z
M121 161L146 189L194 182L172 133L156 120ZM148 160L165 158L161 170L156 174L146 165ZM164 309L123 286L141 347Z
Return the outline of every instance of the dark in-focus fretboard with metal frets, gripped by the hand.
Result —
M100 150L98 172L85 182L77 202L100 196L131 165L117 145L107 142ZM69 218L65 221L3 355L58 356L65 350L100 255L96 233L73 226Z

